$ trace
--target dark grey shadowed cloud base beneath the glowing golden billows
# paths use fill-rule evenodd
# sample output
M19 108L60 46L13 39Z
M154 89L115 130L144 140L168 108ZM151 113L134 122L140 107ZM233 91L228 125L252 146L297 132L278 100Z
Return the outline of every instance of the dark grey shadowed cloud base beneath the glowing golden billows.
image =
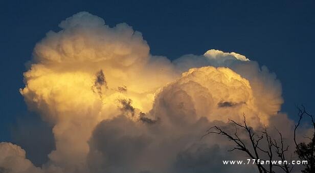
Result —
M163 120L163 119L162 119ZM185 127L135 122L126 116L104 120L92 135L88 165L92 172L227 172L224 158L242 159L227 153L230 146L218 136L200 140L208 125L205 118ZM219 143L219 144L217 144ZM253 172L245 166L239 171Z

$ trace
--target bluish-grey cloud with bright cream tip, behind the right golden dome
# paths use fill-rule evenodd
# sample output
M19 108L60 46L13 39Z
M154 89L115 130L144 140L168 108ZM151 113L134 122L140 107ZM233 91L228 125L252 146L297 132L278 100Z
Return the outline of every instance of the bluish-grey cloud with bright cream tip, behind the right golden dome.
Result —
M281 110L282 87L276 75L269 72L267 67L260 67L258 62L250 61L243 55L209 50L200 56L184 55L173 63L181 72L204 66L227 67L250 82L259 112L276 115ZM261 116L266 122L265 117Z

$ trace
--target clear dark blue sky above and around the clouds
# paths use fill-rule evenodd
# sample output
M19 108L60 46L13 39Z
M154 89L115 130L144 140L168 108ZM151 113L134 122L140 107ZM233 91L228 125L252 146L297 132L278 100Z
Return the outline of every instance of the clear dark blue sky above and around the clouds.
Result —
M46 32L80 11L109 26L129 24L153 55L175 59L209 49L245 55L277 74L283 112L295 118L295 105L303 103L314 114L314 9L314 1L1 1L0 141L14 141L20 121L40 123L18 92L25 62Z

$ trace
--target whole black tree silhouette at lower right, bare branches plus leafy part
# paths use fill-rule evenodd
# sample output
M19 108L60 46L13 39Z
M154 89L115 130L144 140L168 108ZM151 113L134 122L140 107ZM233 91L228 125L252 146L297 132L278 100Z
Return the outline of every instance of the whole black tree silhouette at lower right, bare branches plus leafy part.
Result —
M234 150L240 150L244 152L251 159L264 161L269 161L270 164L262 164L261 162L256 162L257 169L260 173L272 173L275 172L275 168L278 167L283 172L291 172L293 165L287 164L287 156L290 155L290 161L292 161L292 154L296 154L302 161L307 161L305 169L302 170L303 173L313 173L315 172L315 118L305 111L305 107L298 106L299 110L298 116L299 120L294 128L294 143L295 152L289 152L289 145L285 144L284 139L280 131L278 131L279 137L273 138L268 134L267 128L265 127L263 131L254 131L254 129L247 125L245 115L242 123L230 120L230 124L235 127L235 132L230 133L224 130L222 127L213 126L208 129L207 133L201 138L209 134L217 134L227 137L236 146L229 149L229 152ZM310 119L310 124L312 126L311 137L304 137L308 141L298 142L297 140L297 130L302 123L303 117ZM238 134L238 129L241 129L246 134L246 138L240 138ZM272 164L272 160L280 159L283 164ZM290 163L290 162L289 162ZM278 172L278 171L277 171Z

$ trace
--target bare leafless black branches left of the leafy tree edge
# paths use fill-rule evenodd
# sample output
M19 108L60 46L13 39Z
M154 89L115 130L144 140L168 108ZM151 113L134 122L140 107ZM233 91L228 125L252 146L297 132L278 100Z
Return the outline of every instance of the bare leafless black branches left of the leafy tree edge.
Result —
M227 137L229 140L233 141L236 145L234 148L229 149L229 152L232 152L234 150L241 150L242 152L246 153L247 156L249 156L252 159L255 159L256 161L269 161L269 164L261 164L261 162L257 162L256 166L258 168L259 172L275 172L274 166L281 168L284 172L291 172L293 166L287 165L285 162L284 164L272 164L272 160L275 157L279 157L281 161L286 161L286 155L285 153L288 151L288 145L284 145L282 134L278 131L280 136L280 142L277 142L277 140L273 139L268 133L267 129L265 127L263 132L255 132L252 127L248 126L246 123L245 115L243 115L243 122L238 123L234 120L229 119L229 122L232 123L235 126L235 132L234 134L230 134L227 131L224 131L221 127L213 126L208 129L207 133L202 136L201 138L209 135L209 134L217 134L217 135L223 135ZM237 133L237 129L242 129L247 138L241 139ZM261 145L261 142L265 139L265 148ZM249 144L246 143L249 142ZM264 154L264 156L261 156ZM267 160L263 158L268 158Z

